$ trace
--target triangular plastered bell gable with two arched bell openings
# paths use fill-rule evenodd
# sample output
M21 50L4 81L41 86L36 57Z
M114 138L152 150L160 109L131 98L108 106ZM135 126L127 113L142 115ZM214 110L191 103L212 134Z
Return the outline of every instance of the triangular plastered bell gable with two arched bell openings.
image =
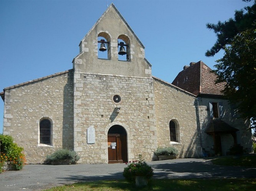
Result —
M111 4L81 40L75 72L151 77L144 45ZM102 56L103 55L103 56Z

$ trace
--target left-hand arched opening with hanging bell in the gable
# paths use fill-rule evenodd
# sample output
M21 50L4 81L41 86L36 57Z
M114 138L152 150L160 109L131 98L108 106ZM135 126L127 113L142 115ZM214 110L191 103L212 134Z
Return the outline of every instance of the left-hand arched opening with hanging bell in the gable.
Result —
M101 32L97 37L98 58L111 59L110 36L106 32Z

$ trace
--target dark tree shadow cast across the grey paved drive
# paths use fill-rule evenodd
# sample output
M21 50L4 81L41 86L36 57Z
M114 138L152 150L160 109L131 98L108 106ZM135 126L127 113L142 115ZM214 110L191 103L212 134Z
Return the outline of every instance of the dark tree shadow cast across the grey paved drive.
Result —
M166 163L150 162L154 169L153 178L252 178L256 177L256 168L230 167L213 165L211 162L202 160L201 162L180 162L179 160L168 160ZM97 180L117 180L124 179L122 172L111 173L109 175L69 175L60 178L63 181L97 181Z

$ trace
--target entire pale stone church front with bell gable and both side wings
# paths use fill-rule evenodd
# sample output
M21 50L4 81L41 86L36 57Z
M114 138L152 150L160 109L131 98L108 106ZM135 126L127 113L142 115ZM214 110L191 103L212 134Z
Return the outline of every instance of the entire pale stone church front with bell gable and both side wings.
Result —
M143 44L113 4L79 47L73 69L0 93L3 133L24 147L28 163L42 163L61 148L77 151L80 163L127 162L138 154L154 160L157 147L165 146L176 147L179 157L211 152L209 98L152 76ZM227 111L226 123L233 123ZM251 149L249 124L236 124L236 137L221 134L223 151L236 142Z

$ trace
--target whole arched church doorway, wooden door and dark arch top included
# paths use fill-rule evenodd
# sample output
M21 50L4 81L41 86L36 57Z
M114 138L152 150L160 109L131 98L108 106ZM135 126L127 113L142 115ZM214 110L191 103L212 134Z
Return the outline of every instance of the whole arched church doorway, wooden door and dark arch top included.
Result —
M120 125L112 126L107 132L108 163L127 162L127 134Z

